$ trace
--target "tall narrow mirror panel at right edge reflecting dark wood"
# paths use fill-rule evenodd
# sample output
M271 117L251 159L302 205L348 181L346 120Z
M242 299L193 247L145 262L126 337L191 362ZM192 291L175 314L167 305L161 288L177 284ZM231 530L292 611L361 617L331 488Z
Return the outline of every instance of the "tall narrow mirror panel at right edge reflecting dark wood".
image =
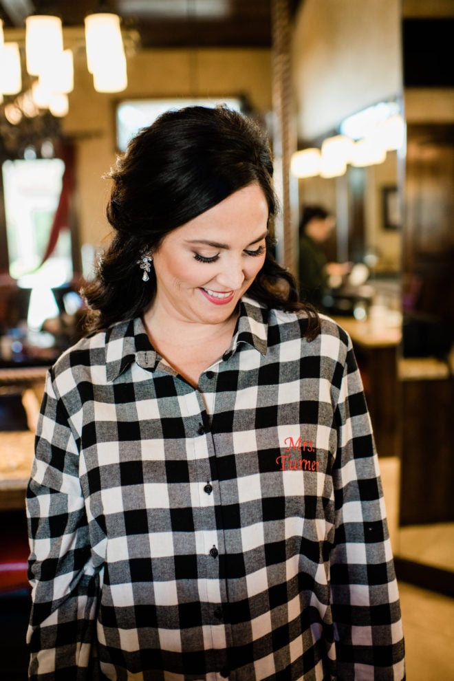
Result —
M445 9L442 17L402 17L407 155L398 557L404 575L453 596L454 78L444 45L454 29L452 3ZM415 47L422 38L423 61Z

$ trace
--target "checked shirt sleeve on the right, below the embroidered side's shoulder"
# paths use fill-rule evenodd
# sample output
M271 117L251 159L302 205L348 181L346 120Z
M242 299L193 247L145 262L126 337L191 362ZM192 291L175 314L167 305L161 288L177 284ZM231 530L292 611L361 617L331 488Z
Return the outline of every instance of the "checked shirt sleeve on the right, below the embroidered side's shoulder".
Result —
M336 408L331 596L339 681L402 681L398 586L371 422L351 340Z

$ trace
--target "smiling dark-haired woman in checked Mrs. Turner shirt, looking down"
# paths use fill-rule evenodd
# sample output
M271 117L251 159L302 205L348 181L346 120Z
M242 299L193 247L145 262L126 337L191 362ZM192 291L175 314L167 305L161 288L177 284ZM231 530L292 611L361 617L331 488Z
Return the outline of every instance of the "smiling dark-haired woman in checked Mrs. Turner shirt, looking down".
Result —
M30 678L404 678L358 369L270 255L266 140L169 111L111 177L37 431Z

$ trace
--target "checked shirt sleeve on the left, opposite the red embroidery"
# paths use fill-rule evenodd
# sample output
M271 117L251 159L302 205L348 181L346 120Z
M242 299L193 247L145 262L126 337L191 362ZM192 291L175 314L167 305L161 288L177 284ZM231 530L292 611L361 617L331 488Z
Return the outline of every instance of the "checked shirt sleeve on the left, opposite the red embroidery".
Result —
M32 585L27 641L33 681L96 678L99 571L91 561L78 459L67 413L49 375L27 492Z

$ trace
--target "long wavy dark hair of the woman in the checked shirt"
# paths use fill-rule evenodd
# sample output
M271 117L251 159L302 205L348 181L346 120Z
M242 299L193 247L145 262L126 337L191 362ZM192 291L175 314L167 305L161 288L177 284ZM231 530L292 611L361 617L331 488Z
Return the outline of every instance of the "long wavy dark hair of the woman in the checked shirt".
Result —
M89 305L86 327L106 328L138 316L155 294L153 267L142 281L138 259L159 248L166 235L250 184L259 184L269 215L277 212L270 148L250 118L226 107L186 107L166 111L134 137L109 176L113 180L107 219L115 230L100 258L96 279L83 295ZM318 333L318 316L298 302L290 272L272 255L248 289L253 299L283 310L307 310L307 337Z

